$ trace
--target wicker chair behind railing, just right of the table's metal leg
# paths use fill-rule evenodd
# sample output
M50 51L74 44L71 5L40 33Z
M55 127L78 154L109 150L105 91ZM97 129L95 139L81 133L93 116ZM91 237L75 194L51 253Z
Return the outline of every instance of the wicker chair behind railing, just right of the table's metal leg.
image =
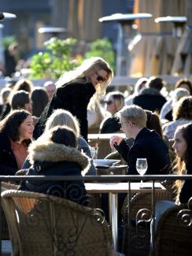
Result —
M154 203L174 201L170 191L155 191ZM127 198L124 200L122 214L124 216L123 252L131 256L148 256L150 253L150 220L152 212L151 191L131 195L130 216L127 216Z

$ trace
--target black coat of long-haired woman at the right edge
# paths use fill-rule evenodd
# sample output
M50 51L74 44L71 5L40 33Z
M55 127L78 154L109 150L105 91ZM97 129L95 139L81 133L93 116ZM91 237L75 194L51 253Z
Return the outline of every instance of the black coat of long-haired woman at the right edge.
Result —
M186 174L192 174L192 158L186 162ZM186 203L192 197L192 180L186 180L179 195L179 201Z

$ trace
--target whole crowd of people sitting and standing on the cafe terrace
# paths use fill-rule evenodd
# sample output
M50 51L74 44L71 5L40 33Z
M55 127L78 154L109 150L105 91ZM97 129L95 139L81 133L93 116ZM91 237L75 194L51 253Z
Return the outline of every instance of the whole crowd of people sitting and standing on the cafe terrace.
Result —
M98 132L111 133L110 146L127 163L127 175L138 175L137 158L147 159L146 174L191 173L190 80L179 80L165 97L161 93L164 80L142 78L126 98L122 91L105 95L112 79L113 71L106 61L90 58L56 83L47 81L35 87L28 79L9 82L1 91L0 174L19 175L24 170L27 176L96 175L87 140L94 116ZM126 139L113 135L121 132ZM190 180L174 184L177 203L189 200L190 185ZM26 180L19 189L87 205L83 181ZM160 205L159 215L170 206Z

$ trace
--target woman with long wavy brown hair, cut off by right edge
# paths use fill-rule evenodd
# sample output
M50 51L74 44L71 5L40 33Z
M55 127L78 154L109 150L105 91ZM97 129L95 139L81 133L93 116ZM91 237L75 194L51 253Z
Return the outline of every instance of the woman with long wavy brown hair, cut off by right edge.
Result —
M192 124L179 126L175 131L173 148L177 154L175 166L173 168L176 174L192 174ZM192 197L192 180L176 181L177 189L176 202L186 203ZM156 226L161 214L169 207L174 206L175 202L161 201L156 205Z

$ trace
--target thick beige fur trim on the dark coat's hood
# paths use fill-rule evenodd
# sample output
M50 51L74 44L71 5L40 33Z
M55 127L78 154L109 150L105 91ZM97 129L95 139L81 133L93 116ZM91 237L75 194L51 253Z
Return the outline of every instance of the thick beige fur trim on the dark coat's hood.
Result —
M87 155L81 153L74 147L66 147L63 144L53 143L51 141L38 141L31 143L28 148L29 161L31 165L35 161L50 161L52 163L57 161L71 161L80 165L83 171L90 168L90 159Z

